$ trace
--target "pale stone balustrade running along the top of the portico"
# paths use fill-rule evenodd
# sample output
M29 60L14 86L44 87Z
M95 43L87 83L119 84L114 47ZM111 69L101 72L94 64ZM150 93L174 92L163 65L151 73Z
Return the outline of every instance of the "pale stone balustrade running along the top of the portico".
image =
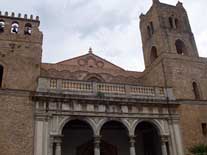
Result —
M174 99L171 88L144 87L139 85L96 83L63 79L39 78L38 92L77 93L86 95L151 97Z

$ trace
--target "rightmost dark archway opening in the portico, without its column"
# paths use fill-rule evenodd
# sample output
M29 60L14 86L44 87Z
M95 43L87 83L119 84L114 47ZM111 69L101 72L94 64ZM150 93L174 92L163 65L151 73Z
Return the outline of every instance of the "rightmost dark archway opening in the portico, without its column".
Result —
M141 122L135 130L136 153L139 155L162 155L161 140L153 124Z

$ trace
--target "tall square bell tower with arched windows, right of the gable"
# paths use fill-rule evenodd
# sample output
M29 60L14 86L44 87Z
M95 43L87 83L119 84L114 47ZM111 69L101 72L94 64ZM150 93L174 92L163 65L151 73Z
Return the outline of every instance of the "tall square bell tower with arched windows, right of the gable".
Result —
M140 15L140 30L146 68L162 54L198 57L189 19L181 2L176 6L153 0Z

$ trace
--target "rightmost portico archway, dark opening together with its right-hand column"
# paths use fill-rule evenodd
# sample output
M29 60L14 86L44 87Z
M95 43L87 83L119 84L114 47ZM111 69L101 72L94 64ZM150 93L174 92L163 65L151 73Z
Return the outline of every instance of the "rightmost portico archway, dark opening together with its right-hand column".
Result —
M164 135L159 122L137 121L134 126L135 150L139 155L168 155L168 136Z

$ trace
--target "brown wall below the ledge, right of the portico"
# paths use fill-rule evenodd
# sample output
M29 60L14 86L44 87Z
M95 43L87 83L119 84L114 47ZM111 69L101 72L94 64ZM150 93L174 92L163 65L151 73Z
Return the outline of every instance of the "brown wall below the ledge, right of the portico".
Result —
M182 104L180 111L180 125L185 153L196 144L207 144L207 137L202 133L202 123L207 123L207 105L199 103Z

